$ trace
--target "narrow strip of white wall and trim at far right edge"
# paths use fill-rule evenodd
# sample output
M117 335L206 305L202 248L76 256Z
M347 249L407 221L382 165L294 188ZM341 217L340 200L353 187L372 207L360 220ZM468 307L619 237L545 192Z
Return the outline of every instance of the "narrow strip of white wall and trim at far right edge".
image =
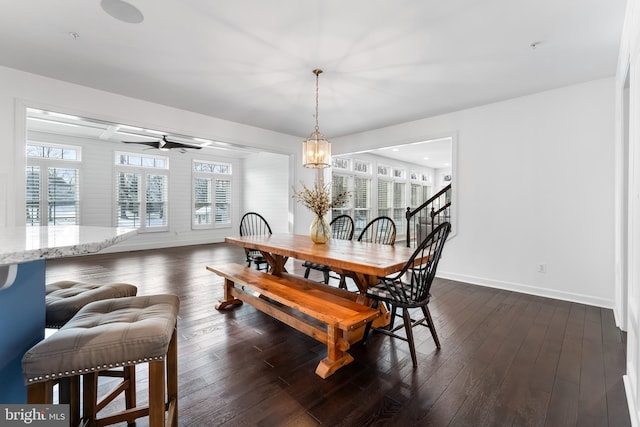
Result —
M629 82L628 89L625 87L627 82ZM628 99L628 102L625 99ZM638 0L627 2L616 73L616 101L615 267L618 299L616 309L620 313L626 313L624 322L627 329L625 388L631 423L633 426L638 426L640 425L640 2ZM628 146L628 150L625 146ZM629 168L628 176L624 173L625 163ZM625 218L628 218L628 224Z

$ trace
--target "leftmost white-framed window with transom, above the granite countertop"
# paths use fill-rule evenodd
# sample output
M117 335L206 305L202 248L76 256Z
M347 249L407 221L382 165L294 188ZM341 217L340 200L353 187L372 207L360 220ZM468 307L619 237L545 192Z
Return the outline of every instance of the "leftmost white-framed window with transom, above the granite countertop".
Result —
M72 146L27 144L26 225L80 224L80 151Z

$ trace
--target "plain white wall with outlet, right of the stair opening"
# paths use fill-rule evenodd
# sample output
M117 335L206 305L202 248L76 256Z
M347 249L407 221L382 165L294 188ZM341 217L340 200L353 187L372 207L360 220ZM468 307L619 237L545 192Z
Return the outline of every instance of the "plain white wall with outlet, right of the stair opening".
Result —
M614 99L613 79L597 80L334 146L350 152L457 134L457 234L440 275L613 307Z

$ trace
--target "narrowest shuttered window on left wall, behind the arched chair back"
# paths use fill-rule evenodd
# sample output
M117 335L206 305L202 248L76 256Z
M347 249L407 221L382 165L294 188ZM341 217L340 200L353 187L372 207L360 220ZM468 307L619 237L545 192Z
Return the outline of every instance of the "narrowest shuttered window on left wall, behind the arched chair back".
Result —
M193 162L193 228L231 225L231 165Z

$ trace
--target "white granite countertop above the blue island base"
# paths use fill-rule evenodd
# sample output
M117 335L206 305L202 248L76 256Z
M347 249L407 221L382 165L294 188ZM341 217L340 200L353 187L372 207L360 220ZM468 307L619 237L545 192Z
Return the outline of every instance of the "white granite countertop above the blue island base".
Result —
M136 233L132 228L82 225L0 227L0 265L94 253Z

